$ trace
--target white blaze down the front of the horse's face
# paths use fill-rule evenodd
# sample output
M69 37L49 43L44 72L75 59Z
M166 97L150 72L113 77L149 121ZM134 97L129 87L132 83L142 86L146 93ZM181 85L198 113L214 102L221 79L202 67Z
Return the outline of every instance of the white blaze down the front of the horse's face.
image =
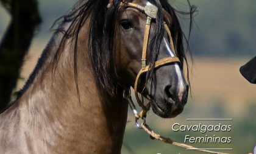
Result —
M165 46L169 52L169 54L171 55L171 57L174 57L174 52L171 51L167 41L165 40L165 38L163 38L163 40L165 41ZM183 81L183 77L182 77L182 71L180 71L180 67L177 63L174 63L174 66L175 66L175 71L176 71L176 74L177 74L177 77L179 79L179 83L178 83L178 86L179 86L179 100L181 101L182 100L182 96L183 96L183 93L185 91L185 82Z

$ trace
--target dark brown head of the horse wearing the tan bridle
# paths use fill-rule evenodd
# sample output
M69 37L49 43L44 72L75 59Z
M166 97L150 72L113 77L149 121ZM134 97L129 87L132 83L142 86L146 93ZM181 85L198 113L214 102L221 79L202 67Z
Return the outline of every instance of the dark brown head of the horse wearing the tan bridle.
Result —
M177 116L187 103L189 86L183 76L186 57L176 14L165 1L117 5L114 49L121 85L132 86L148 98L158 116Z

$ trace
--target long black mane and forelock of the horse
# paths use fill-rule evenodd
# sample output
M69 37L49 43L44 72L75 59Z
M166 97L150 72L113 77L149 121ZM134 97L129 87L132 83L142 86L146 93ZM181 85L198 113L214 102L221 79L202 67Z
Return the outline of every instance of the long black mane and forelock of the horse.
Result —
M93 69L93 74L96 79L96 85L98 86L98 91L102 96L117 97L117 86L118 86L118 77L115 72L115 53L113 52L114 46L113 41L115 40L115 29L116 29L116 19L118 13L118 6L121 1L131 2L132 0L114 0L113 5L107 9L108 1L102 0L80 0L74 5L73 10L71 10L68 15L62 16L57 19L54 23L59 24L59 27L55 29L54 36L57 36L59 33L63 34L62 40L60 41L57 52L55 52L54 59L52 63L53 72L57 69L57 63L59 61L60 55L62 54L62 47L65 44L66 40L72 39L74 42L73 49L73 63L74 63L74 76L77 86L77 94L79 96L79 89L77 83L77 41L79 32L84 25L85 21L89 19L90 16L90 33L88 36L88 54L90 57L91 68ZM172 25L170 27L172 32L172 37L175 38L174 44L177 51L177 57L179 57L182 68L184 60L187 63L186 52L183 47L183 40L185 38L186 43L188 44L192 26L193 13L196 11L196 7L190 5L190 12L180 12L168 3L166 0L148 0L152 4L158 7L158 18L156 19L156 29L151 41L151 52L148 53L148 60L151 68L154 68L155 61L157 60L157 55L160 49L160 42L163 38L163 11L165 9L172 16ZM177 13L190 15L190 31L189 37L186 38L177 17ZM65 27L65 25L69 27ZM16 100L18 100L29 88L30 84L34 81L37 72L41 69L46 58L49 58L49 51L52 46L54 46L54 39L52 37L49 41L48 46L44 49L41 57L38 60L37 65L35 66L34 71L30 74L29 79L23 88L16 92ZM187 66L188 71L188 66ZM148 72L147 79L154 80L154 69ZM187 76L189 82L189 76ZM190 82L189 82L190 83ZM16 100L13 102L15 103ZM13 105L13 103L11 105ZM11 106L9 105L9 107ZM7 108L9 108L7 107ZM6 110L5 108L4 110ZM1 112L0 112L1 113Z

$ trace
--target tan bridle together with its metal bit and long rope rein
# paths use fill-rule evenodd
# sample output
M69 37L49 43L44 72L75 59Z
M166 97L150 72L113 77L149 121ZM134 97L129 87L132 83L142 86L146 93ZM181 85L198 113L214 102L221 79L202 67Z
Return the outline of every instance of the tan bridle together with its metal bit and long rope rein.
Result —
M110 0L107 5L107 8L111 7L112 5L113 5L113 0ZM140 10L140 12L143 12L147 16L146 26L145 26L145 30L144 30L143 50L142 50L142 57L141 57L141 69L138 72L138 75L136 77L135 84L134 84L135 98L138 102L138 105L142 108L140 113L138 113L137 108L135 107L135 104L133 103L130 88L124 89L124 91L123 91L123 97L124 97L124 99L126 99L129 102L130 109L132 110L132 113L135 117L135 126L137 128L140 128L140 129L143 129L144 131L146 131L151 136L152 139L157 139L157 140L163 141L168 144L176 145L178 147L183 147L185 149L197 150L197 151L205 152L205 153L227 154L227 153L221 153L221 152L213 152L210 150L201 150L201 149L197 149L191 145L182 144L182 143L173 141L170 138L165 138L164 136L160 136L157 133L154 133L154 131L146 124L146 114L148 113L148 111L151 108L151 102L149 102L147 105L144 105L143 102L140 100L140 97L138 96L137 88L138 88L138 80L140 79L141 74L144 74L145 72L148 72L150 70L150 66L147 65L147 60L146 60L149 32L151 29L152 19L157 18L158 9L155 5L152 5L152 4L147 4L146 6L143 7L141 5L138 5L138 4L135 4L132 2L121 2L119 4L119 6L126 6L126 7L131 7L133 9ZM166 23L163 23L163 26L165 27L165 30L168 34L169 41L170 41L169 43L171 44L172 51L174 51L174 53L177 53L174 48L174 43L172 41L171 31L169 30L169 27L167 26ZM176 56L163 58L162 60L155 61L154 69L158 68L160 66L166 65L166 64L170 65L171 63L180 63L180 60ZM143 122L141 124L138 123L139 119L143 120Z

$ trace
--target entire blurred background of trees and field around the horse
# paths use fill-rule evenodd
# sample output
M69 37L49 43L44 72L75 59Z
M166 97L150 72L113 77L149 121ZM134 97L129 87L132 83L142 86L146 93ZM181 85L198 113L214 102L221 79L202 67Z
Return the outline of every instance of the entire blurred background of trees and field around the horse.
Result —
M10 0L2 0L10 1ZM35 30L35 37L24 58L21 79L16 89L21 88L34 69L37 58L52 35L49 30L55 19L64 15L77 0L38 0L42 23ZM186 0L169 0L176 9L187 11ZM161 119L152 111L148 124L158 133L183 142L185 135L204 136L198 132L173 132L171 125L198 124L187 118L233 118L229 133L216 136L231 136L231 144L197 144L201 148L229 148L230 153L252 152L256 144L256 87L239 73L241 65L256 55L256 2L255 0L190 0L198 12L194 16L191 50L194 56L191 73L192 97L185 110L174 119ZM0 41L10 24L7 5L0 5ZM188 32L188 16L180 15L180 23ZM1 85L0 85L1 86ZM212 124L205 122L205 124ZM211 133L206 133L212 135ZM199 153L153 141L144 131L137 130L129 111L122 153Z

